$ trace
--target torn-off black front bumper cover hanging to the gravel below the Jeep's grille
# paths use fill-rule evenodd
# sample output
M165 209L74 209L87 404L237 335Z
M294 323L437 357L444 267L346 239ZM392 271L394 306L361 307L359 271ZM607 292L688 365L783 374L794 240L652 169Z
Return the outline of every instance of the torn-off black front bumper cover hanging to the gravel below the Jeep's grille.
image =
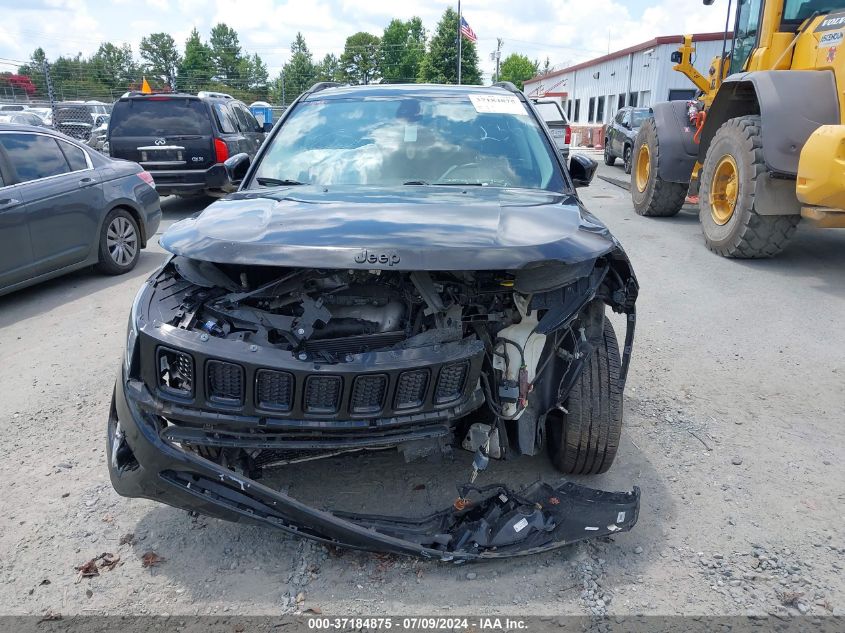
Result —
M326 544L439 560L502 558L630 530L640 491L603 492L563 483L466 487L471 503L421 519L331 513L309 507L166 441L153 413L139 406L140 381L115 386L108 423L112 485L143 497L229 521L279 528Z

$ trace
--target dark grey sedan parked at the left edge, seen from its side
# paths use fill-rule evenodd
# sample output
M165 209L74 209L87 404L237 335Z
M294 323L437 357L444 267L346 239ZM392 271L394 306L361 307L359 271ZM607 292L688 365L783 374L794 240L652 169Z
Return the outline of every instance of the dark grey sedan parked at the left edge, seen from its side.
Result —
M160 220L138 165L53 130L0 124L0 294L92 264L128 272Z

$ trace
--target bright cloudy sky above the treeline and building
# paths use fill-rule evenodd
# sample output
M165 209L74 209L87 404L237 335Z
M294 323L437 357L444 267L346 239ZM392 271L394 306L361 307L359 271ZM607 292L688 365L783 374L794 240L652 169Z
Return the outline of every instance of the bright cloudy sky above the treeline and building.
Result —
M101 42L128 42L136 57L149 33L166 31L184 46L196 27L207 40L225 22L242 48L258 53L275 77L302 32L315 61L340 54L357 31L381 35L393 18L418 15L434 30L441 0L0 0L0 71L14 71L41 46L48 59L90 55ZM586 61L657 35L721 31L727 0L463 0L464 18L478 35L485 79L495 68L490 53L504 40L502 58L517 52L546 57L555 68ZM608 16L612 16L608 19Z

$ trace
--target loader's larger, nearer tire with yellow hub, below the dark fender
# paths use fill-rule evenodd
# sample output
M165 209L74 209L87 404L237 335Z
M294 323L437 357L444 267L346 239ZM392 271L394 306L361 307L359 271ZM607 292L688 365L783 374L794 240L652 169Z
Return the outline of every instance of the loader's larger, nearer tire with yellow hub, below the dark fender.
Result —
M757 213L757 180L766 177L760 117L725 121L701 168L698 219L707 248L742 259L772 257L783 250L801 216Z

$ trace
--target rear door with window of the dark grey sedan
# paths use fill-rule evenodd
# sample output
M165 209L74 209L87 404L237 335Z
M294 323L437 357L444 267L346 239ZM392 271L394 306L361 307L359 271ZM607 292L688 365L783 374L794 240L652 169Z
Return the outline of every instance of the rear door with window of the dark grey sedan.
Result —
M96 248L105 206L88 154L47 134L3 134L0 143L26 205L35 272L84 261Z

